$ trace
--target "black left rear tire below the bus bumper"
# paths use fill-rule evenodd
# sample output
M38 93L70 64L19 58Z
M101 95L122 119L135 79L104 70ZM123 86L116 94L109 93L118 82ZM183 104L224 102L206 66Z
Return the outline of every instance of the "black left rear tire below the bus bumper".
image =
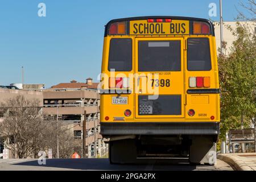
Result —
M136 162L136 159L137 147L134 139L110 141L110 164L132 164Z

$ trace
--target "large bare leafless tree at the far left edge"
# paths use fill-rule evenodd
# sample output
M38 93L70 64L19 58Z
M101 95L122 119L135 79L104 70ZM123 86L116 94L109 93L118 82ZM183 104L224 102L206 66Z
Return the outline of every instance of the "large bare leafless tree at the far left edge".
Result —
M43 138L46 127L39 113L39 100L27 100L16 96L1 103L4 113L0 123L0 135L5 140L4 146L16 158L32 156Z

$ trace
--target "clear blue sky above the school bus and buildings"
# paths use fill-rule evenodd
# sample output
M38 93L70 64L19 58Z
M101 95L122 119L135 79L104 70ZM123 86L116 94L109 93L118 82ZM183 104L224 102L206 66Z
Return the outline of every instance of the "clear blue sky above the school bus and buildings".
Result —
M234 20L240 1L222 0L224 20ZM46 4L46 17L38 4ZM209 3L217 17L209 17ZM174 15L219 19L218 0L0 0L0 85L43 83L49 88L73 79L96 80L101 71L104 25L129 16Z

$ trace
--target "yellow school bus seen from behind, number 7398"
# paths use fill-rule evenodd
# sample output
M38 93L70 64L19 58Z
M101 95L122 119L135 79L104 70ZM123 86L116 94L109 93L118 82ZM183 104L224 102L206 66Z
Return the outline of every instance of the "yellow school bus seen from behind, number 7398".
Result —
M214 164L220 89L213 24L150 16L105 27L101 134L110 163L188 158Z

